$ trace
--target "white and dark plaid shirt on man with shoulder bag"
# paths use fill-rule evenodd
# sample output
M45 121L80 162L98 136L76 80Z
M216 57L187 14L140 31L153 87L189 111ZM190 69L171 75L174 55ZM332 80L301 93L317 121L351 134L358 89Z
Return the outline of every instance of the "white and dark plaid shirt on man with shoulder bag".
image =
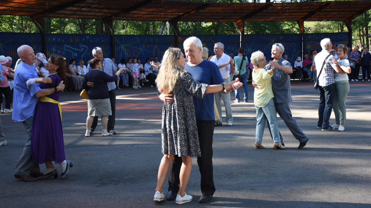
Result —
M328 50L323 49L319 52L313 59L313 66L316 66L317 74L321 71L322 64L324 63L325 58L330 54ZM327 86L330 84L335 83L335 75L334 75L334 68L336 66L335 63L331 63L332 55L330 55L326 61L325 66L322 69L321 75L318 78L318 85L319 86ZM318 76L318 75L317 75Z

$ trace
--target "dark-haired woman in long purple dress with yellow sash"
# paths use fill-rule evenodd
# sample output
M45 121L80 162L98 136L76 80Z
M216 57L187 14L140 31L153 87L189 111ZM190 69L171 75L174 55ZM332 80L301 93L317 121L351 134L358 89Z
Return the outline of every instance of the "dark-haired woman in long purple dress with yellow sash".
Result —
M40 88L58 86L66 73L66 62L62 56L52 54L46 63L49 75L45 78L33 78L27 81L30 84L39 84ZM56 88L55 88L56 89ZM60 164L62 179L69 174L72 163L66 160L62 131L62 109L58 102L60 91L40 97L33 114L31 147L32 157L38 164L45 163L45 174L39 179L47 179L52 175L58 178L58 171L52 161Z

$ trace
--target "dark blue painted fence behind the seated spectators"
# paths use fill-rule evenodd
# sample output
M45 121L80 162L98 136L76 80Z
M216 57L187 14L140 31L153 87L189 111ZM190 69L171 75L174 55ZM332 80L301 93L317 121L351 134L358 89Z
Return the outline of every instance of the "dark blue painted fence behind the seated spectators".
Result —
M179 37L180 47L183 48L183 41L190 36L182 35ZM240 47L239 35L201 35L197 36L204 47L209 48L209 55L213 55L214 43L224 44L224 51L227 54L237 55ZM265 34L265 35L245 35L244 49L249 57L257 50L262 51L266 57L270 57L270 49L274 43L282 43L285 53L288 54L291 62L296 57L302 57L302 34ZM306 34L305 53L311 50L321 51L319 46L323 38L330 38L333 44L347 43L348 33L315 33ZM0 55L10 56L14 60L19 57L17 48L27 44L34 48L35 53L43 52L47 54L59 54L66 58L76 60L82 59L85 65L88 60L93 58L92 49L94 47L103 48L104 57L112 57L112 36L111 35L78 35L78 34L46 34L47 51L42 50L41 35L39 33L0 33ZM153 57L160 58L168 47L175 46L174 36L158 35L115 35L115 58L119 63L121 58L127 60L128 57L140 57L142 63L146 58L153 60ZM14 66L15 61L13 61Z

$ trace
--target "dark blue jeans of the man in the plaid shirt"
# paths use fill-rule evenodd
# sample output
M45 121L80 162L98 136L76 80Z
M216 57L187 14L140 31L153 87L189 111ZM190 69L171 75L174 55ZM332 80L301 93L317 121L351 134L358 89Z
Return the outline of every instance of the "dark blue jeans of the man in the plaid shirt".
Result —
M319 108L318 108L318 124L322 128L330 126L330 116L332 111L332 99L334 95L335 83L327 86L319 86Z

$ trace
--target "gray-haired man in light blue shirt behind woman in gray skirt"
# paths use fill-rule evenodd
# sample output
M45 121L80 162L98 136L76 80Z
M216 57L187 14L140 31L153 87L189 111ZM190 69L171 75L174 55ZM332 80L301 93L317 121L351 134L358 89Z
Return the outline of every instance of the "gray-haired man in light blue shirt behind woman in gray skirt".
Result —
M102 68L100 70L107 73L109 76L113 76L113 72L117 70L117 67L113 63L113 61L110 58L103 58L103 51L100 47L93 48L92 54L95 58L98 58L99 61L102 62ZM90 67L90 64L88 64L87 72L91 71L92 68ZM115 82L109 82L108 85L108 94L109 94L109 101L111 103L111 111L112 115L108 116L108 125L107 125L107 131L114 135L116 134L115 129L115 113L116 113L116 84ZM94 117L92 127L90 128L90 134L95 130L96 125L98 125L98 116Z

